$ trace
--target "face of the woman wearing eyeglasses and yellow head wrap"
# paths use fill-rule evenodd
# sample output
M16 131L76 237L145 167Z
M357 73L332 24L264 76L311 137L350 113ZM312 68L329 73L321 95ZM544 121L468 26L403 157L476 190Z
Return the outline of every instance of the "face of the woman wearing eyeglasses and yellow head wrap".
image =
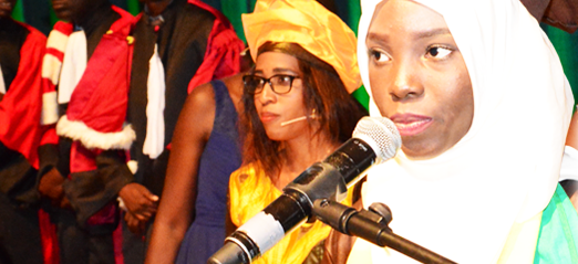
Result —
M282 126L282 123L307 115L303 103L305 87L297 59L280 52L264 52L257 56L255 75L264 78L275 75L297 76L292 81L291 89L286 94L273 92L266 82L262 91L255 94L255 108L269 139L285 141L303 135L309 126L307 120Z

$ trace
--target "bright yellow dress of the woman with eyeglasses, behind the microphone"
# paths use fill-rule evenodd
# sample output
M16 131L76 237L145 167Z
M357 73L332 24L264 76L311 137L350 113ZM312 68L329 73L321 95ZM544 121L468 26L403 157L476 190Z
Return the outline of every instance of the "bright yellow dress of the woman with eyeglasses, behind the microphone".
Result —
M281 193L262 169L257 170L252 163L239 168L231 173L229 180L229 210L233 223L237 226L242 225ZM351 204L351 194L345 201L345 204ZM286 235L277 245L252 263L301 264L311 249L329 235L329 231L331 228L320 221L305 224Z

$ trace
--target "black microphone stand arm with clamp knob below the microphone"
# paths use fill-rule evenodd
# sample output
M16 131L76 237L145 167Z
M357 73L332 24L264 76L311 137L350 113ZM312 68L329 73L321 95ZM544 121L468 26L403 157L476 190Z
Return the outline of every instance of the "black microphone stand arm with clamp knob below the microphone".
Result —
M421 263L455 264L425 247L394 234L389 228L391 211L383 203L373 203L368 210L358 211L337 201L318 199L313 202L313 215L334 230L359 236L381 247L391 247Z

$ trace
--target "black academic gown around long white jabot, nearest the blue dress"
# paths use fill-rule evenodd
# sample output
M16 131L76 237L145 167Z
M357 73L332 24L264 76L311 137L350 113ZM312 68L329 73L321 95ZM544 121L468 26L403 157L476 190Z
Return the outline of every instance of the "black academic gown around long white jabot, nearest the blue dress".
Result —
M138 163L135 180L157 196L161 196L163 190L169 150L165 149L157 159L151 159L143 154L146 137L148 61L157 43L165 70L164 118L167 146L188 95L188 83L203 63L215 20L210 12L189 4L186 0L174 0L162 17L165 22L157 31L146 13L143 13L136 23L127 115L136 131L136 141L131 148L131 159Z

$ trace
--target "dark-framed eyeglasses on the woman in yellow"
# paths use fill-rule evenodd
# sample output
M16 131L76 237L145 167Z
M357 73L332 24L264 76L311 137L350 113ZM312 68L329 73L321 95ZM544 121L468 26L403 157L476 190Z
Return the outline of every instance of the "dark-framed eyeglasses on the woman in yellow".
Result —
M293 80L296 78L299 78L299 76L277 74L270 78L264 78L257 75L245 75L242 76L242 82L245 83L245 89L248 94L261 93L266 83L271 86L271 89L276 94L287 94L291 91Z

